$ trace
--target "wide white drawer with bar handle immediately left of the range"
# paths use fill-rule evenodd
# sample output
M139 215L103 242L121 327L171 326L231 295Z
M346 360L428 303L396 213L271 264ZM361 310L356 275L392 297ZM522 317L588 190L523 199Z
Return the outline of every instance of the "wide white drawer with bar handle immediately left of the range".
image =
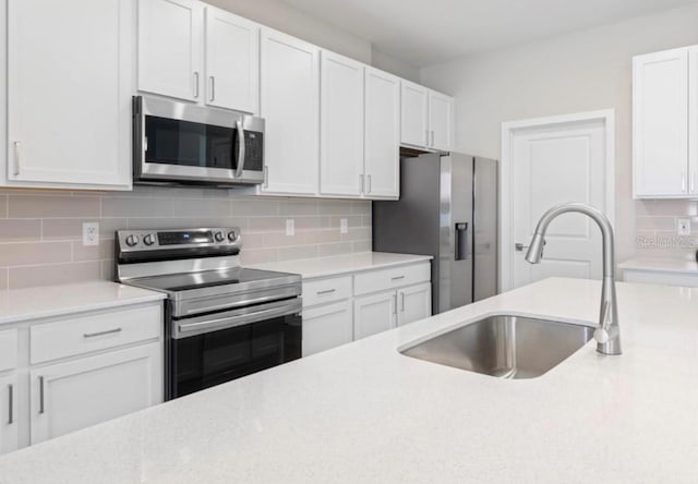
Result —
M32 326L31 363L158 338L163 325L158 304Z

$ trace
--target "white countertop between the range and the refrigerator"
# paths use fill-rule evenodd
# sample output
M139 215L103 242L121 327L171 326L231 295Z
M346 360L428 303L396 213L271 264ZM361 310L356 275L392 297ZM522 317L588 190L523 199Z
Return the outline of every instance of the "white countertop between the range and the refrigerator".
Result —
M253 269L276 270L279 273L300 274L303 279L337 276L358 273L360 270L380 269L384 267L431 261L431 255L393 254L389 252L362 252L359 254L338 255L301 261L245 265Z

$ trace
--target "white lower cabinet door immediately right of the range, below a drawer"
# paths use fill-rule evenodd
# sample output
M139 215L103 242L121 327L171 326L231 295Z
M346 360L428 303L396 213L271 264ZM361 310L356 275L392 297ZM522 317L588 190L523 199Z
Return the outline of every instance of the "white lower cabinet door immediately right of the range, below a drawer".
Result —
M352 340L351 301L303 310L303 356Z

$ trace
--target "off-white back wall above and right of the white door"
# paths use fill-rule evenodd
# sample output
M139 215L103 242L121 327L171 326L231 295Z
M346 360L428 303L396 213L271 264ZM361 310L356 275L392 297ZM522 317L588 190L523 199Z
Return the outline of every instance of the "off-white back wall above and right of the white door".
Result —
M456 97L456 150L501 158L501 125L542 116L616 110L616 252L635 254L631 57L698 44L698 5L654 13L421 71Z

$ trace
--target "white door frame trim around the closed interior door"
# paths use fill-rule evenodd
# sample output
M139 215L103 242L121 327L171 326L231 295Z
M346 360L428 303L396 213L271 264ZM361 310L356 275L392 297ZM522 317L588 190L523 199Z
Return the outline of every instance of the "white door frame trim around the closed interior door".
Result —
M532 118L520 121L502 123L502 162L500 177L500 292L508 291L513 287L514 255L509 247L514 246L514 170L512 153L516 133L531 128L546 128L578 123L583 121L603 121L605 126L605 158L606 158L606 190L605 210L611 226L615 226L615 109L577 112L545 118Z

